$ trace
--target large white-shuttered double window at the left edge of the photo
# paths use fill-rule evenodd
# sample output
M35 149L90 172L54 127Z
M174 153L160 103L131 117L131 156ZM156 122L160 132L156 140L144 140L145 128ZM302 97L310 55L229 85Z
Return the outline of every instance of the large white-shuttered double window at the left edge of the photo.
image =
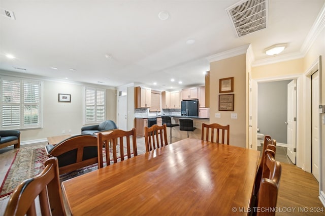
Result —
M42 127L41 82L14 77L0 81L1 128Z

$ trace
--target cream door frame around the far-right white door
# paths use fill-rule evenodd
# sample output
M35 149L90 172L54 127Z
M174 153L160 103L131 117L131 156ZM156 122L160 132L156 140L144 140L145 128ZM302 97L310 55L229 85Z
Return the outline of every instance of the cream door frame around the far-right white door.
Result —
M321 98L321 56L319 56L314 63L304 73L304 92L305 92L305 112L310 115L304 115L303 121L305 122L304 131L304 166L305 171L311 172L311 75L318 70L319 73L319 98ZM321 137L321 121L319 121L319 192L322 191L322 137Z

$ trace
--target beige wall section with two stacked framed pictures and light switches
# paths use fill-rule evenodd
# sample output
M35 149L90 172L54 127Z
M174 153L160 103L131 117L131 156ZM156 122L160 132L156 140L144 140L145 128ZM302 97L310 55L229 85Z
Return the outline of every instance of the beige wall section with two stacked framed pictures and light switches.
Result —
M234 111L219 111L219 79L234 77ZM215 118L221 113L221 118ZM231 119L237 113L238 119ZM210 63L210 123L230 125L230 145L246 148L246 54Z

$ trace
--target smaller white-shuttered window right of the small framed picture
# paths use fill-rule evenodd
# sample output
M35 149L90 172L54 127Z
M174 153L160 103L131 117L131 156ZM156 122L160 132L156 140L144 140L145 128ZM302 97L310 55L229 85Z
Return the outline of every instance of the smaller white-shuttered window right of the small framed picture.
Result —
M106 119L105 89L84 87L84 124L100 123Z

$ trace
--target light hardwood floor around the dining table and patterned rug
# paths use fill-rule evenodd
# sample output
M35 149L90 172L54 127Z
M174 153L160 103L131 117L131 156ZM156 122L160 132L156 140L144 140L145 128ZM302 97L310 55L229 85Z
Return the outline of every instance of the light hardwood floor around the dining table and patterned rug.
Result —
M26 146L22 145L21 147ZM137 146L138 154L143 154L145 152L144 138L137 138ZM13 146L0 149L0 182L3 182L15 152L16 149ZM280 150L278 151L277 149L277 153L280 153ZM315 178L297 166L286 163L285 160L280 162L282 165L282 176L277 202L280 212L277 212L276 215L325 215L324 212L311 212L311 210L317 208L325 211L325 208L318 199L318 182ZM7 202L6 200L1 202L0 215L3 215ZM231 214L232 211L230 209Z

